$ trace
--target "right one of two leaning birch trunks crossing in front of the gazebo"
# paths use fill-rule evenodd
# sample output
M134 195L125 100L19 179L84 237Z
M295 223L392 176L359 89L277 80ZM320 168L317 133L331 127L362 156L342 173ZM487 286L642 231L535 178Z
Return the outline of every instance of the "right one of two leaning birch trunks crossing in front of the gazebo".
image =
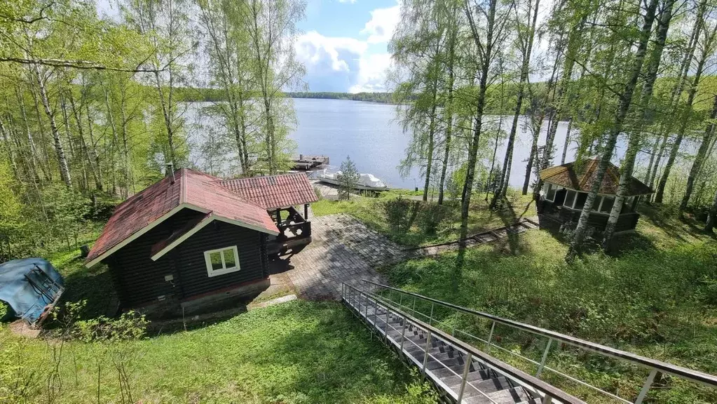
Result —
M637 113L640 119L639 124L645 125L648 118L652 115L650 110L650 100L652 99L652 90L655 87L655 80L657 80L657 70L660 68L660 60L663 56L663 49L665 48L665 40L668 37L668 29L670 28L670 20L672 19L672 8L675 4L675 0L668 0L665 2L663 11L660 12L660 17L657 19L657 35L655 38L655 47L650 52L650 60L647 62L647 77L645 83L642 85L642 93L640 94L640 104L637 106ZM605 231L603 232L602 248L604 250L609 249L609 243L614 234L617 221L619 220L620 213L622 212L622 202L625 201L627 193L630 188L630 179L632 179L632 171L635 169L635 158L637 152L640 151L640 134L632 131L627 141L627 151L625 151L625 159L622 161L620 167L620 179L617 188L617 194L615 195L614 203L612 204L612 210L607 218L607 224L605 225Z

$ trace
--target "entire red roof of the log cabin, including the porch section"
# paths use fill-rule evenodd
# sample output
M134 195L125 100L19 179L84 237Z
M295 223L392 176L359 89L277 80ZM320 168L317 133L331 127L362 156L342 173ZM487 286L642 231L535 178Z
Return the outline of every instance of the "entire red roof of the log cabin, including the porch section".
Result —
M317 200L305 174L223 180L191 169L179 169L174 177L174 182L171 177L164 177L115 207L114 214L87 255L88 267L184 208L206 214L195 227L207 220L218 219L276 235L278 229L267 210ZM184 229L184 232L190 230ZM171 242L166 240L166 244Z

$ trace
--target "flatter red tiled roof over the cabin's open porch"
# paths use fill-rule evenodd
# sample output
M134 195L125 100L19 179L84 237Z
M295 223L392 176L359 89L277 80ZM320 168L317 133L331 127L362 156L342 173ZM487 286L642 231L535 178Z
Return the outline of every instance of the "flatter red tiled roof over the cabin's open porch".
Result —
M267 210L318 201L304 173L224 179L219 184Z

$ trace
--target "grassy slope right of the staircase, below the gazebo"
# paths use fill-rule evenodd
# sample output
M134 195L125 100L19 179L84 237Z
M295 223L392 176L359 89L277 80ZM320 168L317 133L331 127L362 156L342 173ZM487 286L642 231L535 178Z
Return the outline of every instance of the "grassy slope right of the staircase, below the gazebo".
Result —
M467 250L462 266L457 253L447 253L382 271L392 285L424 296L716 374L717 243L692 220L650 207L643 213L637 232L618 240L616 256L592 253L567 264L559 235L532 230ZM430 311L429 304L417 309ZM447 332L457 327L484 339L490 332L488 321L475 317L443 310L434 316ZM494 335L501 347L541 360L545 339L503 326ZM536 371L505 352L491 354ZM628 399L647 377L644 369L569 348L553 349L547 363ZM607 402L544 375L591 402ZM663 377L657 387L649 396L656 403L717 402L717 390L675 377Z

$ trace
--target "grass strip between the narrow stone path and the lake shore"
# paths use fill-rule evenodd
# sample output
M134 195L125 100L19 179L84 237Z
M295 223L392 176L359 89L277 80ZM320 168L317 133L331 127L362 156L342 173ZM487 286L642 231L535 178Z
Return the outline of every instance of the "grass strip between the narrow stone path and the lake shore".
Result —
M427 229L423 219L431 214L430 209L436 207L436 203L411 200L405 217L402 218L401 230L395 231L389 224L383 205L386 201L398 197L398 194L386 194L379 198L354 197L351 201L321 199L313 203L311 209L316 216L348 213L372 229L384 233L396 243L408 247L445 243L460 237L460 209L457 201L445 202L437 230L431 231ZM516 222L519 217L536 215L535 204L531 203L531 199L531 195L521 195L511 190L508 196L510 204L507 207L490 210L485 194L475 194L468 217L468 234L503 227Z

